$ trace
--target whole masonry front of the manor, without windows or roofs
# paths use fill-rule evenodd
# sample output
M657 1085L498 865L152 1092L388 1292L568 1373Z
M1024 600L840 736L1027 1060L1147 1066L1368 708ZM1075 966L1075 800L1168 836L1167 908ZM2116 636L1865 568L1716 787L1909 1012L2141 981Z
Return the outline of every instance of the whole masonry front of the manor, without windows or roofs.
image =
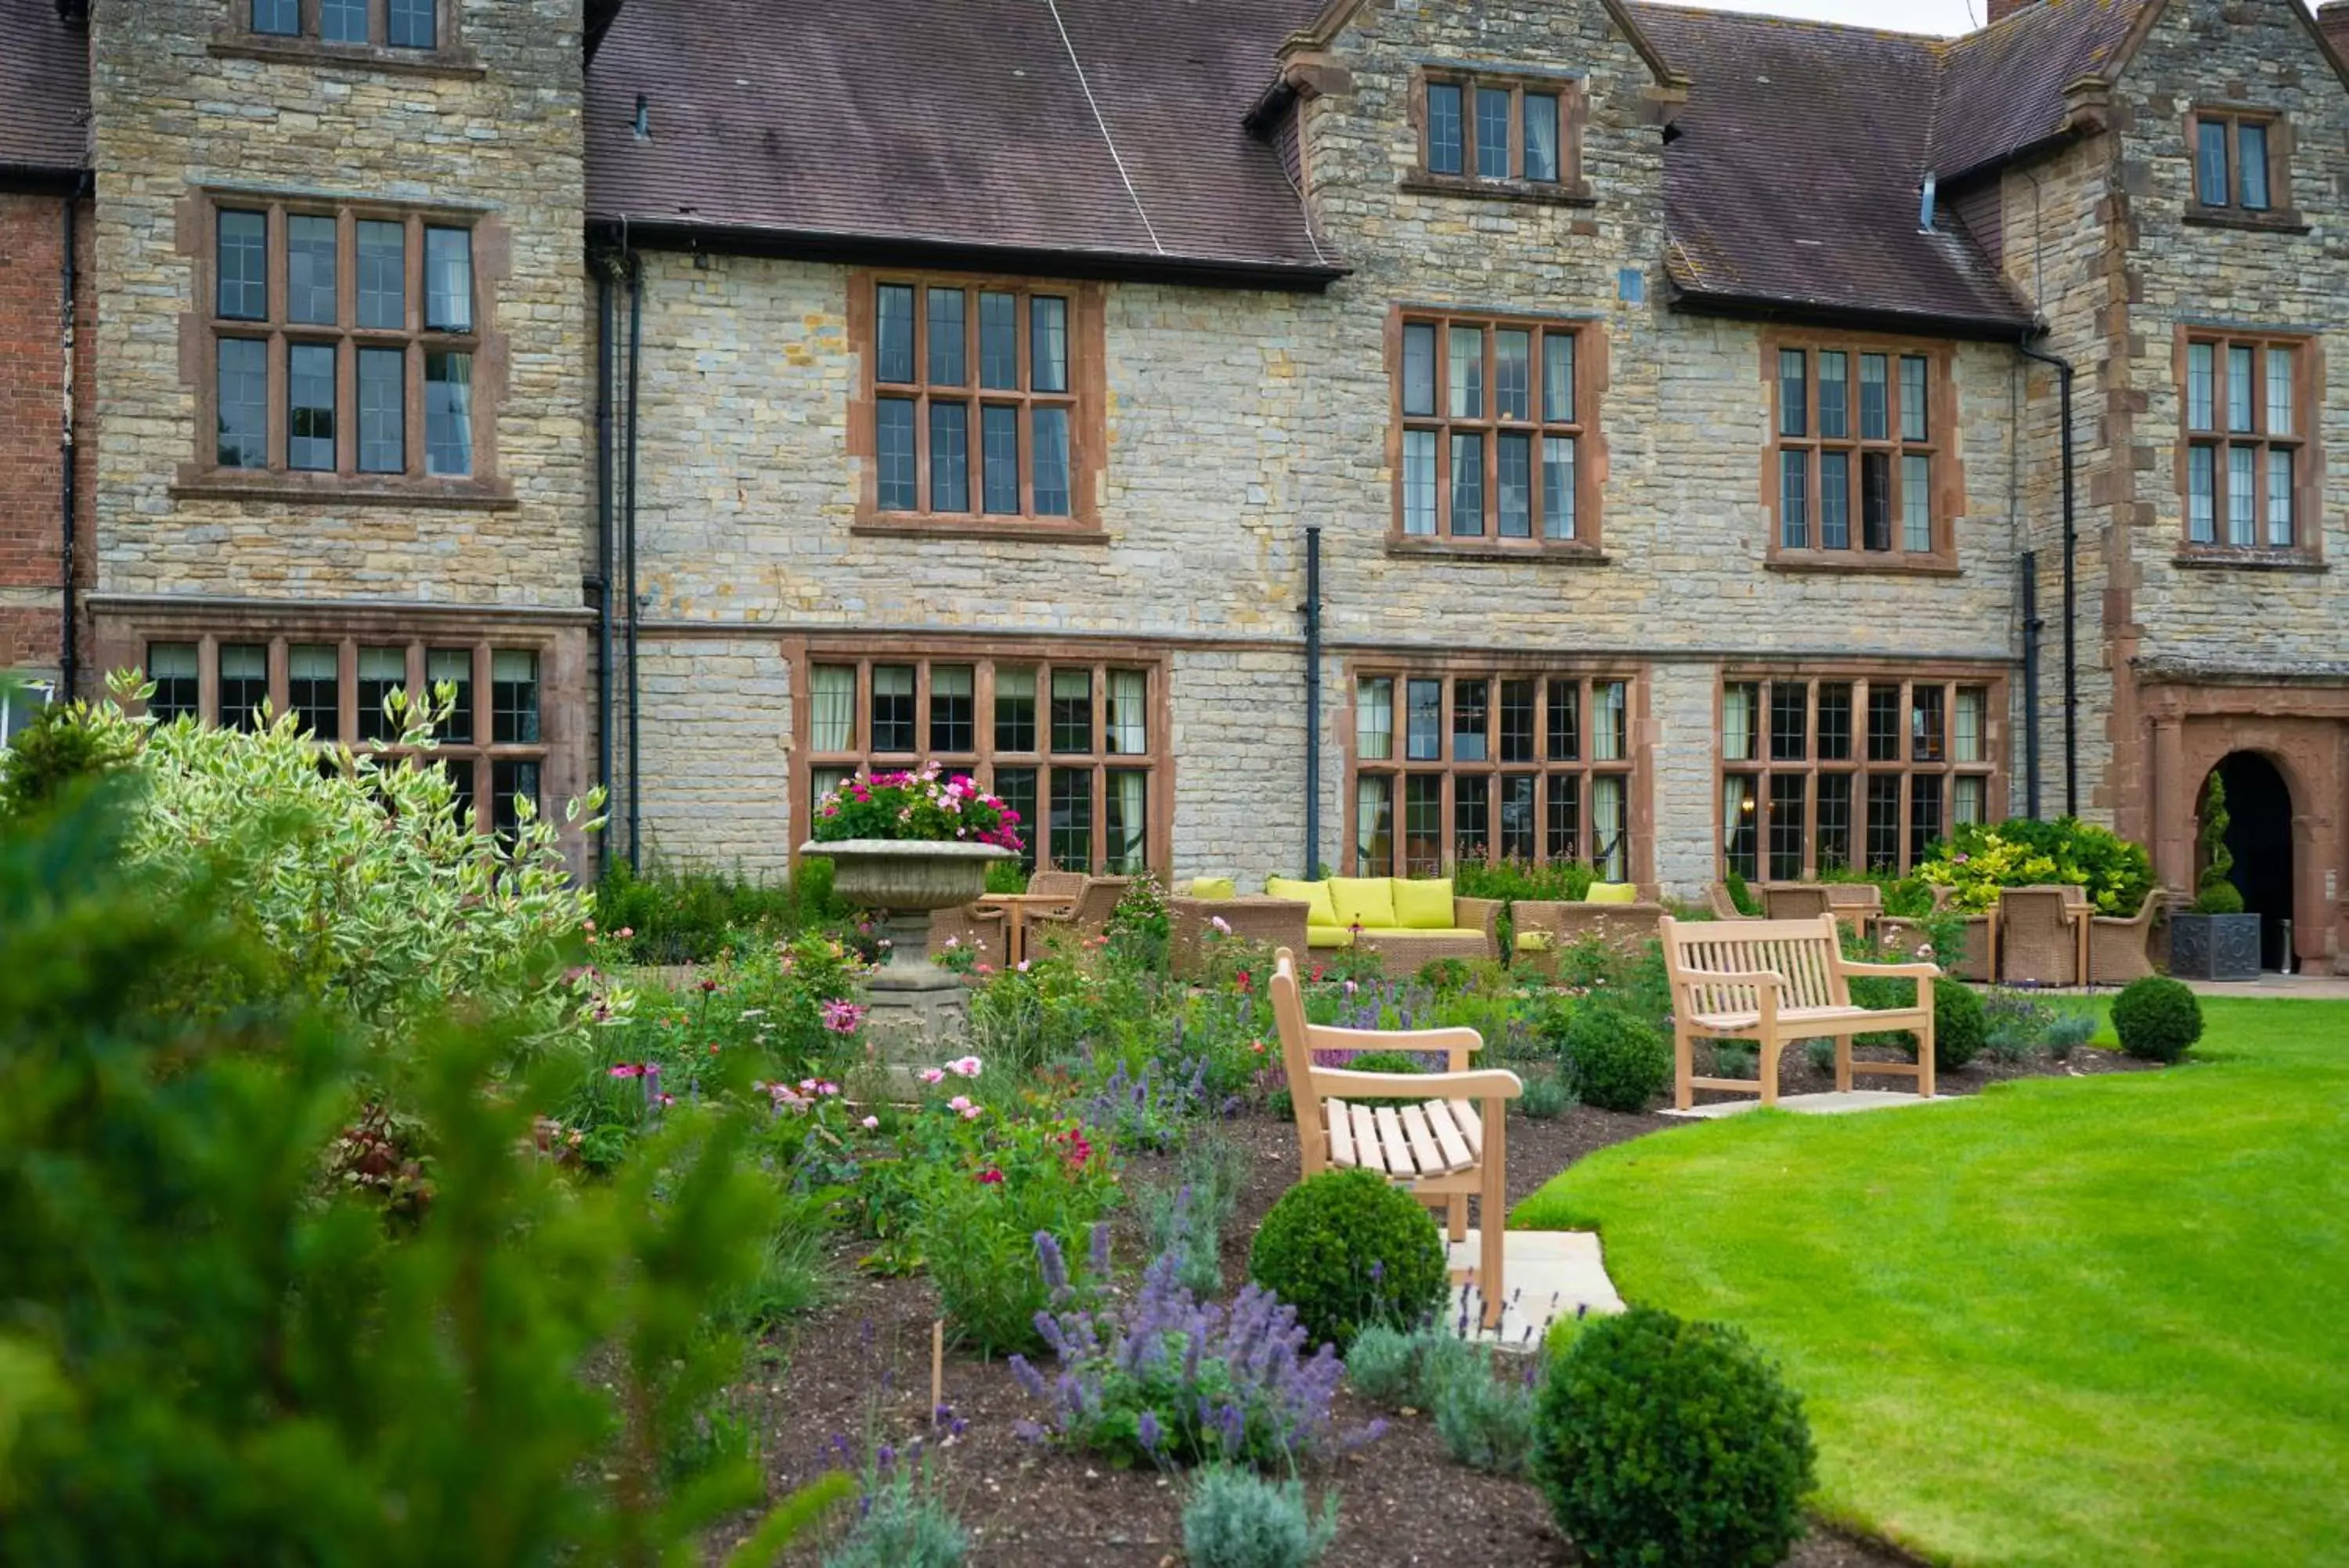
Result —
M935 654L1111 668L1102 649L1123 649L1156 693L1151 858L1170 877L1250 882L1353 865L1360 675L1626 679L1621 870L1694 896L1727 867L1724 682L1950 682L1990 698L1987 816L2025 811L2037 729L2041 809L2077 799L2081 816L2147 839L2170 886L2192 884L2203 773L2229 748L2279 759L2304 856L2300 957L2340 957L2349 712L2330 715L2349 689L2349 604L2333 571L2349 550L2349 343L2333 303L2349 292L2349 85L2293 0L2147 7L2116 80L2067 87L2072 134L1992 169L1987 190L1950 193L1997 214L1990 259L2044 324L2037 348L2077 371L2069 736L2055 374L1987 334L1677 301L1663 268L1665 127L1703 82L1661 68L1618 7L1367 0L1332 7L1327 33L1268 59L1266 80L1287 66L1294 92L1266 129L1294 153L1315 244L1344 263L1327 287L1071 263L1081 282L1038 259L1027 282L1099 292L1088 411L1102 430L1088 496L1099 529L1062 536L911 534L860 515L871 480L855 433L871 353L860 322L876 277L937 277L928 259L585 233L580 0L444 0L453 49L399 68L254 49L233 38L230 12L96 0L89 21L94 287L80 364L99 416L82 421L85 691L139 663L155 628L329 637L343 621L397 630L409 614L418 646L524 637L547 649L543 804L597 783L597 736L611 731L625 799L601 849L576 846L583 867L630 853L787 875L815 778L810 665ZM1557 82L1574 106L1576 197L1482 200L1419 179L1431 66ZM2196 106L2250 106L2288 127L2279 169L2295 221L2192 212ZM653 115L644 134L662 127ZM336 498L204 473L204 223L221 200L263 197L397 202L474 223L493 329L477 484ZM59 642L56 244L59 200L0 186L0 668L33 675L54 672ZM625 280L641 310L632 331ZM1588 510L1574 545L1402 536L1405 313L1579 331ZM618 331L604 334L606 320ZM2182 548L2178 364L2182 334L2199 329L2307 346L2314 515L2279 559ZM1931 357L1947 423L1936 562L1778 559L1781 348ZM601 581L606 505L615 536L634 522L634 604L618 576ZM1308 527L1320 531L1318 736ZM2025 552L2037 712L2022 677ZM601 675L599 602L618 637Z

